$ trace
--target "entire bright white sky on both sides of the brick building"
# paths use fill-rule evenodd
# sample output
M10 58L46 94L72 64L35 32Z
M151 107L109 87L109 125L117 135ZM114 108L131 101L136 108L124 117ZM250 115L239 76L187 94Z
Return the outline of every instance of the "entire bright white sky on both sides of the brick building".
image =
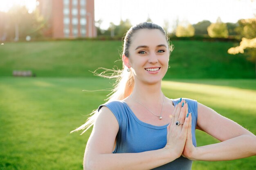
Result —
M33 11L36 0L0 0L0 11L8 11L13 4L26 5ZM101 29L109 23L119 25L120 19L129 19L132 25L144 22L149 17L169 30L178 19L182 23L195 24L202 20L237 22L256 15L256 0L94 0L95 20L101 19Z

